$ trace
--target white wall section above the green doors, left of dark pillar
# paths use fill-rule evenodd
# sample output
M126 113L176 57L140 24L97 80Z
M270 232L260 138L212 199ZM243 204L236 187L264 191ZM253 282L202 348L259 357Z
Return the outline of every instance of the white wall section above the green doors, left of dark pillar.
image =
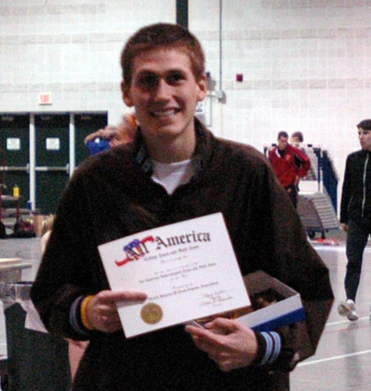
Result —
M2 0L0 111L107 110L117 123L124 42L175 20L174 0ZM44 91L53 105L38 105Z

